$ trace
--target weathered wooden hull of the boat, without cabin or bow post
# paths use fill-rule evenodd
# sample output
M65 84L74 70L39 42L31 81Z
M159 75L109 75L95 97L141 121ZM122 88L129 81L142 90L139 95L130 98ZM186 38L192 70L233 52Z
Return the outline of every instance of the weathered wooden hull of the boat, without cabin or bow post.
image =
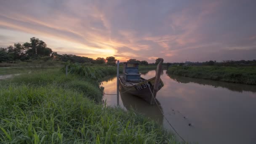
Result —
M142 78L143 79L143 78ZM145 80L141 83L137 83L134 85L125 85L122 81L122 75L119 76L119 81L120 81L120 93L129 93L131 95L134 96L138 96L142 99L144 99L145 101L147 101L148 103L150 103L151 99L152 99L152 91L154 88L154 84L155 84L155 77L152 77L149 80ZM163 81L160 79L159 85L158 85L158 91L163 87ZM150 90L151 91L150 91Z

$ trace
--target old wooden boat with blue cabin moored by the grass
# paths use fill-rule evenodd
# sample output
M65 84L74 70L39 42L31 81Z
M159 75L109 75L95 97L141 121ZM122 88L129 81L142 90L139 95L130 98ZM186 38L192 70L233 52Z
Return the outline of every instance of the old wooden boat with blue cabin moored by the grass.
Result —
M155 104L156 93L164 85L160 79L161 69L162 61L157 65L156 76L146 80L139 74L138 63L125 62L123 64L123 75L119 75L119 86L123 88L125 93L138 96L150 104Z

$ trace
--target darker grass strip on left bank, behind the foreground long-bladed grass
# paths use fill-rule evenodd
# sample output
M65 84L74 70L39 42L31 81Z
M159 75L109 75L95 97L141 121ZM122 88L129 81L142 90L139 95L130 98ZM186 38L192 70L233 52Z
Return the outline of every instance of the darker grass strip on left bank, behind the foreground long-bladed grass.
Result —
M30 87L41 86L58 86L60 88L72 89L83 93L85 97L101 103L102 91L104 88L99 87L99 82L79 75L65 76L60 69L44 69L34 71L31 74L22 74L13 77L11 80L0 81L1 85L24 84Z

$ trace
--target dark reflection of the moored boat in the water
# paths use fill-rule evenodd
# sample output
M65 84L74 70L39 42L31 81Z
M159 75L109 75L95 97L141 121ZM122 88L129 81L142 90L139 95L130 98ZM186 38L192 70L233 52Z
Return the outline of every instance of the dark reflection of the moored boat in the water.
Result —
M149 117L152 120L155 120L160 125L163 124L163 115L161 113L163 109L159 101L156 100L157 105L161 110L157 107L156 104L155 105L148 104L146 101L144 101L143 99L137 96L133 96L133 95L130 95L129 93L122 93L122 92L124 92L123 88L120 89L120 93L121 93L120 97L122 99L123 106L126 109L134 109L136 110L136 112L139 112L143 115L147 115L147 117Z

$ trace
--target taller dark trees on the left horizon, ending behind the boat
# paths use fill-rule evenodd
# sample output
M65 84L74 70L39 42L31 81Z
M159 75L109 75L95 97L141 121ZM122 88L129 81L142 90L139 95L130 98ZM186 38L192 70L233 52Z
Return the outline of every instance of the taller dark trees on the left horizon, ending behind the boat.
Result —
M109 56L106 59L98 57L97 59L88 58L85 56L77 56L72 54L58 54L47 47L43 40L32 37L29 42L24 44L14 43L7 48L0 48L0 62L13 61L33 61L33 60L48 61L55 59L58 61L70 61L72 63L93 63L93 64L108 64L115 65L117 59L114 56ZM138 61L130 59L128 62L138 62L140 64L148 65L147 61Z

